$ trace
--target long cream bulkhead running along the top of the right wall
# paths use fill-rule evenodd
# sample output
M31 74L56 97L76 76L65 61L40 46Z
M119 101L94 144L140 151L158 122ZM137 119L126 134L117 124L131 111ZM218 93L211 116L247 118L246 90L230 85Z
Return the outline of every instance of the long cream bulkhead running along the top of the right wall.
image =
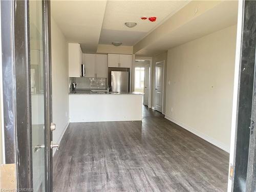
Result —
M186 24L172 31L164 31L157 40L147 42L139 55L154 55L185 42L237 24L238 1L223 1L204 14L191 19ZM165 24L163 24L165 25Z

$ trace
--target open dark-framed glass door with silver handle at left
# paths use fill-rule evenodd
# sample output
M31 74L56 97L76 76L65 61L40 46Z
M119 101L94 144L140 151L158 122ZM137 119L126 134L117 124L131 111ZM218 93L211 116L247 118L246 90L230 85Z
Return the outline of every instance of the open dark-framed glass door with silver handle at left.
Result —
M50 1L1 1L6 162L15 191L52 191Z

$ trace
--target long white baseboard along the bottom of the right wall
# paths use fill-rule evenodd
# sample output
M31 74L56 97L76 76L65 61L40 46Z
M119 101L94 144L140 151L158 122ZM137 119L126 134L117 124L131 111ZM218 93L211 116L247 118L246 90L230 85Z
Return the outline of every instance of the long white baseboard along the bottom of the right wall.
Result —
M185 125L184 123L176 120L176 119L173 119L172 117L168 117L167 115L165 115L166 119L168 119L169 121L172 121L174 123L176 123L177 125L181 126L183 129L197 135L198 137L201 137L202 139L208 141L209 143L221 148L222 150L224 150L225 152L229 153L229 146L227 146L226 144L214 139L214 138L211 138L209 137L208 135L205 135L204 133L202 132L199 132L197 131L196 129L194 129L193 127L190 127L188 125Z

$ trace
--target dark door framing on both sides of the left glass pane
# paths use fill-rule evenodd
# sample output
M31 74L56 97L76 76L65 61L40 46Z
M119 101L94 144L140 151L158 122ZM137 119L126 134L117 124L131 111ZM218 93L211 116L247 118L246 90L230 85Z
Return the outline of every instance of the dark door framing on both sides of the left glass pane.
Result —
M42 0L45 84L45 184L52 191L50 1ZM44 19L45 18L45 19ZM16 188L33 188L29 1L1 2L4 163L15 164Z

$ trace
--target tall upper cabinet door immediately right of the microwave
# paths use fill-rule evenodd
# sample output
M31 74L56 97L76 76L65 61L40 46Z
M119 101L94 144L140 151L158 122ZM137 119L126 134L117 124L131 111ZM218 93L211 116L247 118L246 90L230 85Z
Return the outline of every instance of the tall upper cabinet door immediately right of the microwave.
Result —
M96 54L84 54L84 65L86 66L85 77L95 77Z

